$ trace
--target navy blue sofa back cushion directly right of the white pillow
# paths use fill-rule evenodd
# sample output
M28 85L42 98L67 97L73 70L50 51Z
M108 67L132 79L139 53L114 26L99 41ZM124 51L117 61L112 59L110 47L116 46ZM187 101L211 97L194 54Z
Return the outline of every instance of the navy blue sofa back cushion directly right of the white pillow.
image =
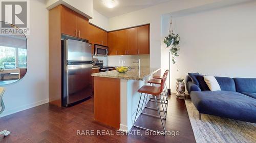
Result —
M218 81L222 91L236 91L236 84L232 78L219 76L215 76L215 78Z

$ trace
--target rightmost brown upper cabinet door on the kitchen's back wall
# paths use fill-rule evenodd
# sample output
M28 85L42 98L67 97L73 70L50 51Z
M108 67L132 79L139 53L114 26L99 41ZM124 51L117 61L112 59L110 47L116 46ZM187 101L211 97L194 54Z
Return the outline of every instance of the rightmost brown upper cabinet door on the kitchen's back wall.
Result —
M138 27L138 54L150 54L150 25Z

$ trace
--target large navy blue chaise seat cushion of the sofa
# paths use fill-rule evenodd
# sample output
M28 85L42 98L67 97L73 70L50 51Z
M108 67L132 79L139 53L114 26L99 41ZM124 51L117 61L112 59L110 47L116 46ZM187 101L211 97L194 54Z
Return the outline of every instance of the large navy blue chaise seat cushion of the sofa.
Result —
M191 91L190 97L199 112L256 123L256 100L233 91Z

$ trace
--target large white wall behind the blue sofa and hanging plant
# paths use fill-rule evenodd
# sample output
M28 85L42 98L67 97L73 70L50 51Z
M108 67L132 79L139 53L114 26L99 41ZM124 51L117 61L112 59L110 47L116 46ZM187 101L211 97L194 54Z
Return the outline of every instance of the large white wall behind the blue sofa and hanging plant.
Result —
M172 92L175 78L185 78L187 72L255 78L255 14L254 1L173 18L175 32L181 36L181 52L177 59L180 72L175 65L171 66ZM166 36L170 18L162 19L163 36Z

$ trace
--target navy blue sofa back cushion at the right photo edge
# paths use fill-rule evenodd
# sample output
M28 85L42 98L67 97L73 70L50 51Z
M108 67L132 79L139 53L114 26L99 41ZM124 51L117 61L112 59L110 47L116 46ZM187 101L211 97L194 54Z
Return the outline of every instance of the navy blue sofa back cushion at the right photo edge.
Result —
M256 78L233 78L237 92L256 93Z

